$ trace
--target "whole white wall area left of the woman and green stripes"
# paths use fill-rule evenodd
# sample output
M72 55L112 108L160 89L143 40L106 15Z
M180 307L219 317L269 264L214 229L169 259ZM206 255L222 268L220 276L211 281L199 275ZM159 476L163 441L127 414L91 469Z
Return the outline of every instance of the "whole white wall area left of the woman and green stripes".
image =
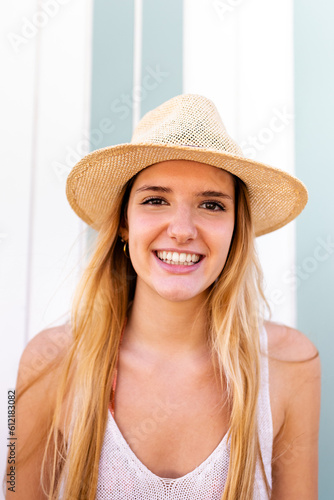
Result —
M64 322L85 251L65 180L89 150L91 20L90 0L0 6L1 473L19 357Z

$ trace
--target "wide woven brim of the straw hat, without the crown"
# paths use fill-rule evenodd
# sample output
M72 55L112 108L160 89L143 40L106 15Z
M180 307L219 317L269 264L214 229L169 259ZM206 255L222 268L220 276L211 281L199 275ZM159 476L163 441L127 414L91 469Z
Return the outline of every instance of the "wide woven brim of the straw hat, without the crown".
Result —
M250 196L256 236L285 226L307 203L304 184L283 170L213 149L152 143L121 144L86 155L68 176L68 201L81 219L99 230L124 184L144 168L167 160L206 163L243 180Z

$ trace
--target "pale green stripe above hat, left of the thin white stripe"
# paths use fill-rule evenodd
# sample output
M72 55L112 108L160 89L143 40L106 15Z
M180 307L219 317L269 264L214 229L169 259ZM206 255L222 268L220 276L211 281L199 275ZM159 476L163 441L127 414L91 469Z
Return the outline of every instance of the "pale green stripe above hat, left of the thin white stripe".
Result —
M94 1L92 150L131 139L133 28L133 0Z

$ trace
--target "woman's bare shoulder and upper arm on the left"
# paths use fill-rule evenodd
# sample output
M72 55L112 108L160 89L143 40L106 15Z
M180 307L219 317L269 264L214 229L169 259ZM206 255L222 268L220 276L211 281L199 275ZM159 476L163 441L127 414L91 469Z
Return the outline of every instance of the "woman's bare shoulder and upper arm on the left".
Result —
M54 416L57 389L71 346L69 325L41 331L25 347L16 383L16 490L6 499L46 500L40 472Z

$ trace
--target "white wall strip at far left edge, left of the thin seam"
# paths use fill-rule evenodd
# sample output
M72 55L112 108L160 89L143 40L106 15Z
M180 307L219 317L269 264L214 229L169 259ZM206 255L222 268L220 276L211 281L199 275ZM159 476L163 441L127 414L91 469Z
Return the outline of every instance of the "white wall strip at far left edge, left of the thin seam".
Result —
M33 156L36 38L22 37L22 17L36 0L0 4L0 441L8 438L7 391L14 388L24 347L30 173ZM21 14L21 16L20 16ZM6 450L0 451L5 470ZM0 498L3 499L2 488Z

